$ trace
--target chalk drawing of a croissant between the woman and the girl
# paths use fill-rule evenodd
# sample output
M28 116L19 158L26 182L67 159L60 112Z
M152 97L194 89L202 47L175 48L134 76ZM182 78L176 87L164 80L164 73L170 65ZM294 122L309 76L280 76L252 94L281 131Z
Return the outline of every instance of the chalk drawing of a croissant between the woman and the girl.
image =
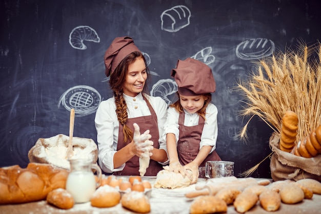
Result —
M166 79L159 80L155 83L150 91L152 96L160 96L165 100L167 104L171 104L171 101L168 99L168 96L175 93L178 90L177 84L174 80Z

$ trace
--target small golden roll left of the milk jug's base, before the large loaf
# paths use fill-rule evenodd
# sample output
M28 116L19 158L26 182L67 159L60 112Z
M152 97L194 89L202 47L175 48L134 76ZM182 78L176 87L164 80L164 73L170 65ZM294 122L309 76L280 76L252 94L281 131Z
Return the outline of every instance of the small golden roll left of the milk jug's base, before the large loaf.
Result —
M61 209L70 209L75 204L71 194L63 188L54 189L49 192L46 200L49 204Z

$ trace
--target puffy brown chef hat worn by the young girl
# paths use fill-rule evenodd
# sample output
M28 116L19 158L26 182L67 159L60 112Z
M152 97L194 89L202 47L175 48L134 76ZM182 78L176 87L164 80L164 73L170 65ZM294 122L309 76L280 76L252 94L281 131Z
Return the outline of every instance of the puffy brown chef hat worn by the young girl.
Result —
M211 68L198 60L178 60L171 76L177 83L179 94L195 96L215 92L216 84Z

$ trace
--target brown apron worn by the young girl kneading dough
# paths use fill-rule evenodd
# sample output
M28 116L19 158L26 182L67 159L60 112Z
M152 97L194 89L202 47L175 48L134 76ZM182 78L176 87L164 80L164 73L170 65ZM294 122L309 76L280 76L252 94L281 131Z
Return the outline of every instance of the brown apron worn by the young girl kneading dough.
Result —
M179 125L179 139L177 142L177 153L180 164L186 165L192 162L198 152L200 137L203 132L205 120L202 116L199 116L198 125L196 126L184 126L185 112L181 112L178 117ZM214 150L206 159L200 164L200 167L204 167L207 161L220 161L218 154ZM201 173L199 173L201 175Z

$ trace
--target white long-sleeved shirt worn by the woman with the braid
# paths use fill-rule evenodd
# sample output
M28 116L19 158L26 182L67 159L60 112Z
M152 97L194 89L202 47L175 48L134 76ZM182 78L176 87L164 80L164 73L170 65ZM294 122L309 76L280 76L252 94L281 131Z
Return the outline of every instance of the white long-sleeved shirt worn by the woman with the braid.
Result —
M146 102L143 99L142 93L139 93L134 98L124 95L127 104L128 118L137 118L138 116L151 115ZM164 123L167 116L167 104L160 97L149 96L144 94L157 115L158 132L159 132L159 149L166 149L166 141L164 139ZM118 168L114 168L113 157L117 151L119 122L116 115L115 99L109 98L102 101L96 111L95 127L97 130L98 144L98 164L105 172L121 171L125 164ZM139 126L139 124L138 124ZM141 132L142 134L143 132ZM161 163L163 165L167 164Z

